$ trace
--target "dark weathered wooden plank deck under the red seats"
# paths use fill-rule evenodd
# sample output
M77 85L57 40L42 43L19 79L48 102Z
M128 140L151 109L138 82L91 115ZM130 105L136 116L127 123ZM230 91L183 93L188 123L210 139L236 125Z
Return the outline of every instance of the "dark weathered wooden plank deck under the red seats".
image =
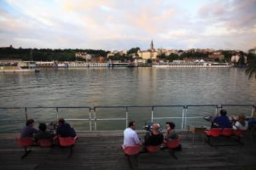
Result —
M69 148L31 147L32 152L20 159L23 148L17 146L15 136L1 134L0 169L130 169L127 158L121 150L122 132L80 133L74 147L74 155L67 158ZM143 133L139 133L142 137ZM139 169L256 169L256 145L245 136L244 145L211 147L195 138L181 133L182 151L177 152L178 160L167 151L142 153L139 155ZM219 139L216 144L230 139ZM136 169L136 168L134 168Z

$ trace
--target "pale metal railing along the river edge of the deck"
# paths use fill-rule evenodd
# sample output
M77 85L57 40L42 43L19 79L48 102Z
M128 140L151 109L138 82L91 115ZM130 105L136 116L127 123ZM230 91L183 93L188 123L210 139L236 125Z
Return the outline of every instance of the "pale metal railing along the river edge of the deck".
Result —
M24 110L25 113L25 119L28 119L28 110L31 109L49 109L52 108L56 110L56 120L59 119L59 110L60 109L85 109L88 111L88 117L84 118L65 118L67 121L87 121L89 123L89 130L90 131L97 131L97 123L98 121L125 121L126 127L128 126L129 122L129 109L130 108L150 108L151 111L151 118L150 121L154 122L155 120L166 120L166 119L181 119L181 129L184 129L187 127L187 119L198 119L202 118L202 116L190 116L189 109L190 108L203 108L203 107L210 107L215 109L215 113L218 113L221 108L225 107L250 107L251 113L250 116L254 115L254 112L256 111L255 105L141 105L141 106L96 106L96 107L0 107L0 113L1 110ZM124 117L114 117L109 118L109 112L104 113L104 118L98 118L97 112L99 109L125 109ZM181 108L182 112L178 115L181 116L155 116L155 108Z

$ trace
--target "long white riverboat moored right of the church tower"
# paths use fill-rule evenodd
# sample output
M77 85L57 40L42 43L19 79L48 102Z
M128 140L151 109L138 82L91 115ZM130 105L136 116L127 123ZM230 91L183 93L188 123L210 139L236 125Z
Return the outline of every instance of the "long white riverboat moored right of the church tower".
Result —
M155 68L230 68L229 63L217 62L184 62L184 63L153 63L152 67Z

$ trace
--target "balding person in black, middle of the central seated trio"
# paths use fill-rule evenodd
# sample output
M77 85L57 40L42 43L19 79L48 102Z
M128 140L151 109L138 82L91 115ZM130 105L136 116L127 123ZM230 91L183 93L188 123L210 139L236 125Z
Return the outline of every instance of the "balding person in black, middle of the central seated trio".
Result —
M158 123L154 123L151 132L145 135L145 142L143 143L143 145L161 145L164 138L163 134L160 133L159 129L160 125Z

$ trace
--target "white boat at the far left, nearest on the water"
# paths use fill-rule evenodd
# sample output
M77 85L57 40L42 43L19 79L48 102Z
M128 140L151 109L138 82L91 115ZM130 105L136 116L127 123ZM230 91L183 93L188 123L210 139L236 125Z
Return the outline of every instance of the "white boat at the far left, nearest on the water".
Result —
M0 73L15 73L15 72L40 72L36 62L23 61L19 63L1 63Z

